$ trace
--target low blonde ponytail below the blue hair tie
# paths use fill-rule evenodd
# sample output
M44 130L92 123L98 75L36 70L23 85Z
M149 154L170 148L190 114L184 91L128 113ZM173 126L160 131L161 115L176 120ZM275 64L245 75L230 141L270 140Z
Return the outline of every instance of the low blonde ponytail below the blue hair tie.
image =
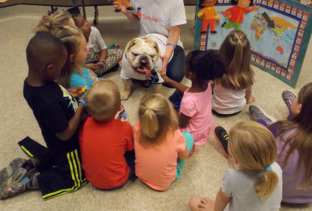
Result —
M270 166L271 168L271 166ZM260 197L261 201L269 198L277 186L278 176L272 170L265 171L255 183L255 188L257 195Z

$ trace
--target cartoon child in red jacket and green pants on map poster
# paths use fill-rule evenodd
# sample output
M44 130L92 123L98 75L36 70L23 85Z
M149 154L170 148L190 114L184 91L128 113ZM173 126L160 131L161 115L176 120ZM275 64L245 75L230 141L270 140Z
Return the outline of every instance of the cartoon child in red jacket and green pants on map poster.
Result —
M245 12L251 12L258 9L260 6L253 6L250 8L246 8L251 6L253 0L231 0L231 4L235 4L236 6L230 7L222 14L224 17L229 19L229 22L224 22L221 27L226 29L232 28L235 25L235 30L241 30L241 23L244 21Z

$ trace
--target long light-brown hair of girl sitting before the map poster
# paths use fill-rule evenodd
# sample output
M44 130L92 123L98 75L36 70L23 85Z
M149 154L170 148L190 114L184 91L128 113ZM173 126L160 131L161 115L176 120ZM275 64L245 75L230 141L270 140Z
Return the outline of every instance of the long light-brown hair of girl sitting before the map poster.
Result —
M247 89L253 85L255 73L250 67L250 43L244 32L231 31L220 46L219 53L225 58L227 72L216 80L217 84L234 90Z

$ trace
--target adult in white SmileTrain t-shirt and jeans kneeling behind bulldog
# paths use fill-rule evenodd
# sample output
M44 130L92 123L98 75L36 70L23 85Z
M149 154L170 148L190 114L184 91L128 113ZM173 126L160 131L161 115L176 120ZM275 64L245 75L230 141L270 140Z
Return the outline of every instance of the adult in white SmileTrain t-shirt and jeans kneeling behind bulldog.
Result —
M157 33L168 37L166 52L160 57L162 70L166 69L170 79L181 82L185 54L180 41L180 25L186 23L183 0L131 0L130 5L133 11L122 5L121 12L130 21L140 23L140 36ZM117 8L117 0L114 0L114 7Z

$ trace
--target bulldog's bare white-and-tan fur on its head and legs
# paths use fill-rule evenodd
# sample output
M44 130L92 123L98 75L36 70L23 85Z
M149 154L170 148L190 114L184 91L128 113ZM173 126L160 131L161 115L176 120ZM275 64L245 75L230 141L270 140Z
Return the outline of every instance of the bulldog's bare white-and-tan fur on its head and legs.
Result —
M156 62L160 59L160 52L158 49L158 44L153 39L148 36L142 36L130 40L125 49L125 55L133 70L140 74L146 74L147 78L150 77L150 71L154 69ZM143 59L142 59L143 58ZM142 61L144 63L142 63ZM141 65L145 65L146 68L142 70ZM124 90L120 93L121 100L127 100L130 96L130 79L122 79L124 84ZM153 84L154 90L161 92L162 84Z

